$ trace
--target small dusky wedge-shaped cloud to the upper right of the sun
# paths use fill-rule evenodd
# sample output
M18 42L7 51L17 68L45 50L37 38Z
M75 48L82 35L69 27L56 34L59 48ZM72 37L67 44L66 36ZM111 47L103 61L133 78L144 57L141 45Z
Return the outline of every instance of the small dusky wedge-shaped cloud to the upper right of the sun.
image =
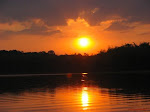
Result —
M123 24L122 22L114 22L112 23L107 29L107 31L123 31L123 30L130 30L134 27L127 26Z

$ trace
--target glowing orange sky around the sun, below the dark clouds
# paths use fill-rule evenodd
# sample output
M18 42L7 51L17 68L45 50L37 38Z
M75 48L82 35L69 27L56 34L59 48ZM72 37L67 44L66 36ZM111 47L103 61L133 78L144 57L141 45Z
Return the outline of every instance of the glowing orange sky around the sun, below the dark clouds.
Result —
M41 20L36 24L43 25ZM78 17L77 19L66 20L66 26L51 26L50 29L59 30L61 33L52 35L31 35L31 34L12 34L11 37L0 40L0 49L21 51L48 51L54 50L56 54L72 54L72 53L98 53L101 49L119 46L125 43L140 43L150 41L149 35L139 35L150 29L150 25L139 25L130 31L106 31L113 21L104 21L97 26L91 26L85 19ZM30 23L26 23L27 27ZM138 23L135 23L138 24ZM0 29L9 29L18 31L24 29L21 23L14 22L9 24L0 24ZM92 45L87 48L81 48L77 45L76 40L80 37L90 38ZM131 38L132 37L132 38Z

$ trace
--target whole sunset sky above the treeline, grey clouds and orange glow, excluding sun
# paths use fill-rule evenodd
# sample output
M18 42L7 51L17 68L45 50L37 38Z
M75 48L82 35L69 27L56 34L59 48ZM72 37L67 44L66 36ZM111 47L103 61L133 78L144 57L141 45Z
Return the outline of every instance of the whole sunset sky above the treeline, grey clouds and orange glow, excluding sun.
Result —
M95 54L145 41L150 0L0 0L0 50Z

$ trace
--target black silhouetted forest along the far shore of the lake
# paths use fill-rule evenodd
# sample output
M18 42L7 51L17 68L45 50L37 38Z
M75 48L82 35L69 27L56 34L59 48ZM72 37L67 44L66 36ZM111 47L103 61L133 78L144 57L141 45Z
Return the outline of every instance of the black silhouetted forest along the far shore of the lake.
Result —
M0 74L77 73L150 70L150 43L124 44L98 54L0 51Z

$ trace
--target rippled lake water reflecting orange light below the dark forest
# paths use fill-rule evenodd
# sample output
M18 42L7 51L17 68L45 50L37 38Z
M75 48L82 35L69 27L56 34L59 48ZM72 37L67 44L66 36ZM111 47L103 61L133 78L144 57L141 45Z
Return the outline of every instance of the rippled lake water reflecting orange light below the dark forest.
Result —
M0 77L0 112L150 112L147 79L98 77Z

